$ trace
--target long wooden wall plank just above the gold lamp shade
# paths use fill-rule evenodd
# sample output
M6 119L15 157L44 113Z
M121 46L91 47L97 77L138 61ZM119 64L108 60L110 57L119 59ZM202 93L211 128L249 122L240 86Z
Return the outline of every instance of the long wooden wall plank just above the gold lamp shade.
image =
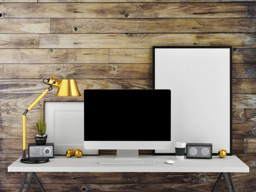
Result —
M28 69L30 75L28 76ZM153 77L152 64L7 64L5 79L146 79Z

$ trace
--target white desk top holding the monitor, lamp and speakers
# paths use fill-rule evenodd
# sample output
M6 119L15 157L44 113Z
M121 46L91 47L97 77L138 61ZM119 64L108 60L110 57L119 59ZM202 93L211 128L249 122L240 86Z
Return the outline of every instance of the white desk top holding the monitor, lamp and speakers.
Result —
M47 163L25 164L21 157L8 166L8 172L249 172L249 167L237 156L221 159L186 159L179 161L176 156L140 155L141 160L154 160L156 165L99 165L100 160L112 160L115 156L82 156L80 158L55 156ZM167 164L165 160L175 164Z

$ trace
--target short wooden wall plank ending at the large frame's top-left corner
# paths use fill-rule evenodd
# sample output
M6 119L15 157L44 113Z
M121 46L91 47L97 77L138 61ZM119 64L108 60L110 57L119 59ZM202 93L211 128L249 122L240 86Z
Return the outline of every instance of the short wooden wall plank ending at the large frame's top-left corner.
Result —
M110 49L110 63L152 63L152 49Z

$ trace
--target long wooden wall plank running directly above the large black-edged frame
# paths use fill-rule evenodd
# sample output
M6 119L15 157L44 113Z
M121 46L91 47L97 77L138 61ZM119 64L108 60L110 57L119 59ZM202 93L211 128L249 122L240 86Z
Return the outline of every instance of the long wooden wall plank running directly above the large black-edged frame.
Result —
M256 48L256 38L251 33L40 34L40 48L45 49L152 49L177 45Z

